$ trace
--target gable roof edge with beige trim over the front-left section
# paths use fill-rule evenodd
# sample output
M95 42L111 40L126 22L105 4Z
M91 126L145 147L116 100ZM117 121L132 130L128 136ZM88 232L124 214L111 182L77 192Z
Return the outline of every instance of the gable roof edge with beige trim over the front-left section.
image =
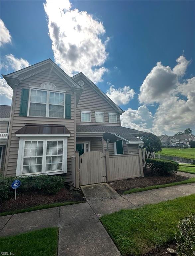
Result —
M52 69L52 71L56 73L56 75L58 75L65 83L67 83L72 88L73 91L76 92L76 104L78 104L79 98L82 93L82 88L51 59L38 62L29 67L2 76L7 81L8 85L13 89L15 85L20 84L24 79L41 73L47 69Z

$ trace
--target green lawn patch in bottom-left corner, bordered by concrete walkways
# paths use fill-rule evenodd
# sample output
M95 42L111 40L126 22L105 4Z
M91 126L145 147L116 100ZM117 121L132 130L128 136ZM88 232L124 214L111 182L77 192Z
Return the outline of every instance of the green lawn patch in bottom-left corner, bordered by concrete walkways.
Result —
M1 238L1 252L12 252L15 256L57 256L57 248L58 228Z

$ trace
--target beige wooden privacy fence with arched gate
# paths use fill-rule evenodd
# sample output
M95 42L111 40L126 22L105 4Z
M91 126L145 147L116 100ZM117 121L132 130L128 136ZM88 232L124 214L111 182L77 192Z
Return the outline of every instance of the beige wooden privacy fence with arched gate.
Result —
M135 177L143 177L141 149L137 153L109 155L91 151L72 157L72 183L74 187L100 182L110 182ZM79 162L80 161L80 162ZM79 170L80 163L80 170Z

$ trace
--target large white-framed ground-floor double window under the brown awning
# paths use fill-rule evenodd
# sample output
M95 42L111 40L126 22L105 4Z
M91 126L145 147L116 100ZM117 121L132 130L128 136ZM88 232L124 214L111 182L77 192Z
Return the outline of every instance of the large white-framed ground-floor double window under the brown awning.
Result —
M67 137L20 140L17 175L60 174L67 171Z

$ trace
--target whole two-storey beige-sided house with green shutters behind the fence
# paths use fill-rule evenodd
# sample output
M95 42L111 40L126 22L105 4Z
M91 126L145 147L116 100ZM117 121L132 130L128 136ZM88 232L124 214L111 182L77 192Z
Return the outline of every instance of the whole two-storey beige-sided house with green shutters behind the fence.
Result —
M123 110L83 73L72 78L51 59L3 75L13 89L4 175L66 173L71 156L104 152L103 133L115 134L109 154L138 152L140 131L121 127Z

